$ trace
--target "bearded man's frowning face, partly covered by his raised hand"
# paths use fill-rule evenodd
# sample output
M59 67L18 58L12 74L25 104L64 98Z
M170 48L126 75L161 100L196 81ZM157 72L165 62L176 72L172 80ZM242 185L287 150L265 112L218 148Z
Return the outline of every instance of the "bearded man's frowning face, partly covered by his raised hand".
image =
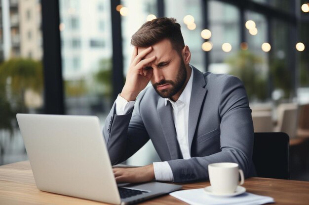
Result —
M155 91L163 98L180 96L187 81L187 70L184 60L175 49L171 42L164 39L153 46L145 58L155 56L155 60L144 69L153 69L152 85ZM146 48L138 48L138 53ZM176 100L177 100L176 99ZM174 100L174 99L173 99Z

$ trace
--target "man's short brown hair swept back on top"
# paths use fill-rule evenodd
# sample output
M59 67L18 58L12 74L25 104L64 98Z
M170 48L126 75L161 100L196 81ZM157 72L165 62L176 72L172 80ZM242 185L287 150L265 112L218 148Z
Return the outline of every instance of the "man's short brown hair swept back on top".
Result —
M146 22L132 35L131 44L137 47L149 47L165 38L171 41L177 52L185 47L180 25L176 19L164 17Z

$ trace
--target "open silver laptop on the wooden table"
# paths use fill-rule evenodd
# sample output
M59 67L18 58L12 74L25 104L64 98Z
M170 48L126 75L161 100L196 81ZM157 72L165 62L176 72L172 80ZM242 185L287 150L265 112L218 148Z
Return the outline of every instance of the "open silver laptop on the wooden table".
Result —
M17 121L41 191L125 205L182 187L159 182L118 187L98 117L17 114Z

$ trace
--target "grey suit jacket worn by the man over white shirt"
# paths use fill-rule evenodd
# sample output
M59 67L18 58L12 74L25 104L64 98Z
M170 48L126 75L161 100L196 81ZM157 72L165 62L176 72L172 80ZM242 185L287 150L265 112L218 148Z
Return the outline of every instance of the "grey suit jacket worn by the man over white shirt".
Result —
M193 67L189 108L189 149L183 159L170 102L165 106L152 87L144 89L127 115L115 115L115 103L103 135L112 164L133 155L149 139L162 161L172 169L174 182L208 179L208 164L235 162L252 175L253 123L241 81L227 74L201 73Z

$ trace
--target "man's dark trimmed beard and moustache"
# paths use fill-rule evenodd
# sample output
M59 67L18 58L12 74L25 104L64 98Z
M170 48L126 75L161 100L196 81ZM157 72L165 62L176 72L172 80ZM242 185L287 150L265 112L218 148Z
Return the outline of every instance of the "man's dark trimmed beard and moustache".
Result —
M159 83L154 83L153 87L156 93L160 95L163 98L171 98L173 95L175 95L181 88L184 86L187 79L187 70L186 65L183 60L181 60L181 64L179 67L179 72L177 74L176 80L161 80ZM164 84L170 84L172 88L169 89L163 89L163 90L157 90L157 86L161 86Z

